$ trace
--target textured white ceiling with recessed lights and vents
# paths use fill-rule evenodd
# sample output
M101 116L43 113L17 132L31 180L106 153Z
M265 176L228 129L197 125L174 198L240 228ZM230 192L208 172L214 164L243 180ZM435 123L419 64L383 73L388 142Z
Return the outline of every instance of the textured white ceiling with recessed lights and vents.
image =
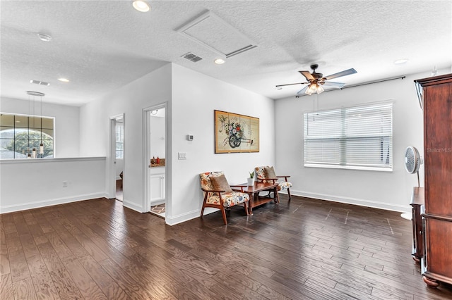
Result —
M275 85L304 82L297 71L311 63L323 75L355 68L333 80L348 85L452 65L451 1L149 3L140 13L131 1L0 1L1 96L28 99L32 90L46 94L42 101L82 105L168 62L273 99L295 95L299 86ZM258 46L215 65L215 51L177 32L206 11ZM203 60L181 57L189 51ZM398 58L410 61L395 65Z

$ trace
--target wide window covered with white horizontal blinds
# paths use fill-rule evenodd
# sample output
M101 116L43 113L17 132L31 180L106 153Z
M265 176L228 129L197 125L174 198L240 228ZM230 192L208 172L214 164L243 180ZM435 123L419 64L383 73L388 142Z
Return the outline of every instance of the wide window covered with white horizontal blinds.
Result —
M393 104L304 113L304 166L391 171Z

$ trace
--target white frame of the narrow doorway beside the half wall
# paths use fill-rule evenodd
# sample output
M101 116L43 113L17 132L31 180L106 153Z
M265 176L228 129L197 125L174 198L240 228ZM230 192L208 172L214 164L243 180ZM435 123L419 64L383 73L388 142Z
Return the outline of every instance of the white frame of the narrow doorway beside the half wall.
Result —
M110 135L109 135L109 156L107 161L107 194L109 199L116 198L116 120L122 118L124 124L124 139L123 139L123 149L122 149L122 163L123 170L126 168L126 116L125 113L120 113L119 115L110 116ZM122 179L122 189L123 189L123 205L124 205L124 180Z

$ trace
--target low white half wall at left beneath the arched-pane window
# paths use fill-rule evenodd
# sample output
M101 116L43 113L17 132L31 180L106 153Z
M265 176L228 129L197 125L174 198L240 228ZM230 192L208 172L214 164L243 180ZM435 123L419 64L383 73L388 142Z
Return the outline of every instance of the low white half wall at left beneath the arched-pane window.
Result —
M105 158L0 161L0 213L103 197L104 173Z

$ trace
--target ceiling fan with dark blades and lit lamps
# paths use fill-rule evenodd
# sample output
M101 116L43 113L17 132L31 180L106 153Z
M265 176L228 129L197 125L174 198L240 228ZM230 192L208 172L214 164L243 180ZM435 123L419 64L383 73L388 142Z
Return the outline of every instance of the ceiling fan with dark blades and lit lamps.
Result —
M339 72L339 73L335 73L335 74L331 74L326 77L323 77L322 73L316 73L317 68L319 68L319 65L313 64L313 65L311 65L312 73L309 73L309 71L299 71L299 73L301 73L304 77L306 77L308 82L289 83L287 85L307 85L303 89L300 89L297 92L297 94L301 94L302 92L304 92L307 95L311 95L311 94L315 94L315 93L320 94L321 92L324 91L322 85L325 85L328 87L335 87L336 89L340 89L345 85L345 83L331 82L331 81L326 81L326 80L331 80L333 78L343 77L346 75L351 75L351 74L357 73L354 68L351 68L348 70L343 70L342 72ZM286 85L277 85L276 87L285 87L285 86Z

